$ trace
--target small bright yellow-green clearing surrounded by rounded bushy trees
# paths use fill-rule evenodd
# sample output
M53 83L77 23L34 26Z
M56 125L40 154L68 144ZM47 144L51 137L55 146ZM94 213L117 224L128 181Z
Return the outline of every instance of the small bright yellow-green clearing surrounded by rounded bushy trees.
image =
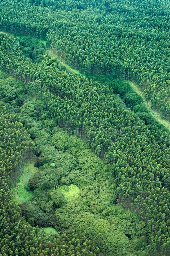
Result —
M59 189L65 196L67 202L70 202L75 198L79 197L80 194L79 188L74 184L71 184L70 186L63 186Z

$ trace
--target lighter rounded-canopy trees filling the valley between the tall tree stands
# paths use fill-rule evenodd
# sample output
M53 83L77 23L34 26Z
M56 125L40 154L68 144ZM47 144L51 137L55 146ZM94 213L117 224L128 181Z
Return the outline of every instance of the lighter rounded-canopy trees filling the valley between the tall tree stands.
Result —
M35 102L35 98L28 99L19 110L23 111L24 105L31 106L32 102ZM41 104L41 102L39 103ZM11 104L8 107L11 107ZM33 107L37 109L36 104L33 104ZM19 110L18 112L20 112ZM122 250L126 255L126 250L130 253L132 248L137 252L138 242L141 245L140 251L143 253L147 251L148 249L145 250L144 223L135 213L113 204L113 190L110 190L109 187L115 187L115 185L112 185L112 180L109 181L107 174L105 178L101 179L101 174L104 172L104 165L101 160L88 149L88 146L81 139L74 136L70 137L67 132L61 129L53 128L52 135L50 135L51 129L46 127L46 121L48 123L50 121L49 119L46 120L48 112L43 110L40 116L37 115L39 121L32 113L34 110L30 112L29 108L24 108L24 117L23 115L20 116L20 113L18 115L23 118L25 128L34 138L34 152L38 155L35 165L39 167L39 170L37 171L37 168L33 167L33 161L26 164L22 176L16 184L16 188L22 188L18 191L20 192L19 195L25 197L23 201L19 198L20 201L17 203L22 203L20 208L30 225L46 227L44 231L49 234L56 234L55 230L52 229L53 226L56 230L69 236L72 236L72 233L77 233L82 239L84 236L91 237L92 242L96 241L96 244L106 255L112 255L112 251L122 255ZM28 169L29 172L27 173ZM28 174L30 186L27 183ZM30 193L30 189L33 190L31 201L30 198L26 197L27 193ZM13 198L15 199L15 196ZM28 200L25 201L25 199ZM70 207L72 208L71 211L69 210ZM111 216L113 218L112 224L104 212L106 208L107 211L111 211L109 215L110 218ZM56 210L61 211L59 219ZM84 210L86 214L90 214L89 218L94 221L94 229L90 229L91 223L82 225L84 218L88 217L82 215ZM69 214L70 220L71 218L78 220L77 223L73 223L72 228L64 220L65 211ZM73 214L74 211L75 215ZM123 216L120 220L117 220L119 218L117 211L121 211ZM51 228L48 227L49 225ZM101 238L98 239L95 233L100 225L103 228L100 231ZM117 226L116 232L115 225ZM127 231L126 226L131 227L131 231ZM77 227L80 227L80 230ZM105 234L108 231L112 236L108 236L106 239ZM127 232L129 232L128 236L131 239L128 238ZM115 238L115 233L119 237L119 243ZM119 244L124 249L120 250ZM108 249L106 250L106 248Z

